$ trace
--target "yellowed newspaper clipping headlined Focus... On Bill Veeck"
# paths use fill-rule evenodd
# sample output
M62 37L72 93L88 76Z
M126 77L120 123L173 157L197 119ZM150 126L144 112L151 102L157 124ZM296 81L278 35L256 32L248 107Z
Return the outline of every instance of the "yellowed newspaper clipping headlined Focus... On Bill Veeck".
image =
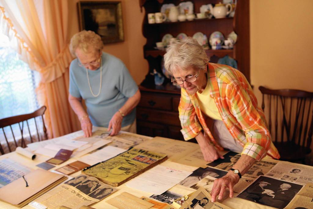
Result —
M98 202L109 196L116 189L94 177L79 175L31 202L30 205L44 205L48 208L66 206L79 208Z

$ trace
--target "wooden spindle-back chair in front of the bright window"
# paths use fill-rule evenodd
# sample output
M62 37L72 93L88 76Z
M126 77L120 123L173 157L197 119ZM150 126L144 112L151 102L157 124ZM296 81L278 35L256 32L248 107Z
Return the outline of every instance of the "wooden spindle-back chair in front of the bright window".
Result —
M42 137L39 136L39 135L41 135L41 133L38 130L38 126L37 126L37 122L36 122L35 118L36 117L41 117L42 122L43 122L42 126L43 126L43 131L44 131L44 139L45 140L47 139L47 129L46 129L45 125L44 125L44 117L43 117L44 112L46 111L46 109L47 109L46 106L42 106L38 110L36 110L35 112L29 113L29 114L17 115L17 116L12 116L12 117L9 117L9 118L0 119L0 128L2 128L3 135L4 135L4 138L5 138L6 142L7 142L9 152L12 152L14 150L11 150L11 147L10 147L10 144L9 144L9 141L8 141L8 138L7 138L7 134L8 133L7 134L5 133L4 127L8 127L8 126L10 127L11 133L12 133L12 136L13 136L13 140L14 140L14 144L15 144L16 147L18 147L17 140L19 140L19 139L16 139L16 137L14 136L14 133L13 133L13 129L12 129L12 125L13 124L18 124L19 130L21 132L21 139L20 139L21 140L21 146L22 147L26 147L25 140L23 138L24 122L26 122L26 124L27 124L30 142L32 143L33 142L33 136L31 135L31 130L29 129L28 120L33 119L35 121L35 127L36 127L36 131L37 131L37 138L38 138L38 141L40 141L40 138L42 139ZM1 145L1 143L0 143L0 152L1 152L1 154L4 154L4 149L3 149L3 146Z

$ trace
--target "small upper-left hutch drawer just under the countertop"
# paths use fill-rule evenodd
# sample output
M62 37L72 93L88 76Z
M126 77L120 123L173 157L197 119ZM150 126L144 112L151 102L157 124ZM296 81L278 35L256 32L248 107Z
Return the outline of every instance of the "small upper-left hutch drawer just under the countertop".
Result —
M172 110L172 97L164 94L141 93L141 99L138 106Z

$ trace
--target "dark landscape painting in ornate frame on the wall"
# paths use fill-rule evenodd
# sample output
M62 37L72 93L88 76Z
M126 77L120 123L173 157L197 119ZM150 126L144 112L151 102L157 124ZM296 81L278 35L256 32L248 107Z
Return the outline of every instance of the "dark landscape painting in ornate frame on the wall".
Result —
M80 1L77 4L80 31L94 31L104 44L124 41L121 2Z

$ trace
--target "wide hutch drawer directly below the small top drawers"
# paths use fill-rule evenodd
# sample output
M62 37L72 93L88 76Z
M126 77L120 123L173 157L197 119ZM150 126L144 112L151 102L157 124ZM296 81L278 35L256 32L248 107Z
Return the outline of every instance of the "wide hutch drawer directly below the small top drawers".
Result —
M153 110L137 107L137 120L180 126L177 112Z

